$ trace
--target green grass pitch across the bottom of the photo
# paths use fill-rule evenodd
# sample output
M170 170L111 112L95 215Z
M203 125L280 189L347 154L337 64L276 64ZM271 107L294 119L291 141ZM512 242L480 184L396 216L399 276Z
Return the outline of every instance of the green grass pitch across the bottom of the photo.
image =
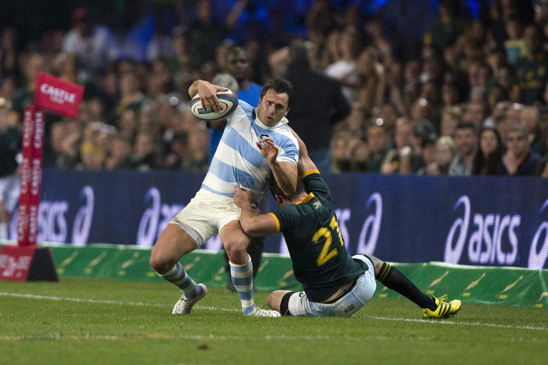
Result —
M266 292L256 293L265 308ZM61 278L0 282L0 364L546 364L548 312L463 304L422 320L405 299L373 299L349 319L245 318L210 288L173 316L168 283Z

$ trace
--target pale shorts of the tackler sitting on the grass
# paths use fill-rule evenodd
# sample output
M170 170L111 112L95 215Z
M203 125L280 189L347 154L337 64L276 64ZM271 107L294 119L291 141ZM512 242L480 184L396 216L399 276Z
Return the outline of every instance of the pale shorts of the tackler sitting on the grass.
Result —
M373 297L377 282L375 282L375 267L373 262L363 255L355 255L366 263L369 269L362 273L356 281L356 285L344 297L335 303L325 304L309 301L306 293L301 291L293 293L289 297L288 309L292 316L343 316L349 317L358 312L360 308Z

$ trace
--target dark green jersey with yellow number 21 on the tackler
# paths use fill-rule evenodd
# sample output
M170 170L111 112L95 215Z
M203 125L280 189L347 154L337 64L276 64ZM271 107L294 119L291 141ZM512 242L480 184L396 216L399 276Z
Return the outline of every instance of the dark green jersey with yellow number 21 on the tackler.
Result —
M269 213L282 231L293 263L295 278L303 284L310 301L325 301L338 288L367 270L353 260L340 235L329 188L318 170L303 174L309 193L297 204L280 206Z

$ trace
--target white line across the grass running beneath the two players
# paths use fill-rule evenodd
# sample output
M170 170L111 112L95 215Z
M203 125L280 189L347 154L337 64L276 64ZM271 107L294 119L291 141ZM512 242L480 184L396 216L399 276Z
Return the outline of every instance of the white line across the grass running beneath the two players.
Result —
M29 299L45 299L45 300L58 300L58 301L75 301L80 303L99 303L99 304L119 304L123 306L151 306L151 307L169 307L171 305L161 304L161 303L144 303L140 301L114 301L114 300L102 300L102 299L82 299L82 298L69 298L69 297L50 297L45 295L34 295L34 294L23 294L23 293L3 293L0 292L0 297L17 297L17 298L29 298ZM212 306L195 306L197 309L201 310L219 310L223 312L240 312L240 309L236 308L218 308ZM534 326L514 326L514 325L499 325L496 323L481 323L481 322L453 322L453 321L438 321L438 320L425 320L425 319L410 319L403 317L385 317L385 316L364 316L368 319L376 319L380 321L399 321L399 322L416 322L416 323L425 323L433 325L464 325L464 326L474 326L474 327L492 327L492 328L503 328L503 329L528 329L532 331L548 331L548 327L534 327ZM199 336L198 336L199 337ZM207 337L207 336L206 336ZM204 337L204 338L206 338ZM2 337L0 337L1 339ZM275 339L275 337L271 337ZM282 337L281 337L282 338ZM306 339L306 336L299 338ZM318 338L318 337L314 337ZM322 337L323 338L323 337ZM325 337L325 339L329 336ZM190 338L189 338L190 339ZM310 338L312 339L312 337ZM318 338L319 339L319 338Z

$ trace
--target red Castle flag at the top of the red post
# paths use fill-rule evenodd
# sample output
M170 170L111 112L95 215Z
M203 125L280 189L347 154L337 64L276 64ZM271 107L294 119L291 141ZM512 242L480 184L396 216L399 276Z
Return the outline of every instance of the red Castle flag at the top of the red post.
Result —
M83 94L84 86L40 72L34 90L34 106L76 118Z

